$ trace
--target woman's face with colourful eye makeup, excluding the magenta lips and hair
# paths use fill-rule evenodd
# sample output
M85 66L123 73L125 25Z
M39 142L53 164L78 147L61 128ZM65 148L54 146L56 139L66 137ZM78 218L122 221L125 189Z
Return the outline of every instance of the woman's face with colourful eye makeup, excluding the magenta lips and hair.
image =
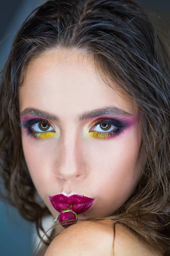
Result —
M138 158L141 113L110 82L114 90L99 79L93 59L78 52L49 50L28 65L20 112L34 111L21 113L20 122L39 122L29 127L37 137L21 127L23 151L37 192L54 218L59 212L49 196L65 192L94 198L78 219L102 218L112 215L139 182L140 161L145 163L143 148Z

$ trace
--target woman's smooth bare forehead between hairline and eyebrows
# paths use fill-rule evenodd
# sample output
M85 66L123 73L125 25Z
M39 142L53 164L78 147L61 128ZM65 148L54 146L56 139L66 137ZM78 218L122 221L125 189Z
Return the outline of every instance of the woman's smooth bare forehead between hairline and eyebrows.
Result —
M90 55L76 51L48 50L31 60L20 88L20 108L40 107L75 113L113 105L130 113L137 111L134 100L115 81L111 87L100 79ZM44 110L45 110L44 109Z

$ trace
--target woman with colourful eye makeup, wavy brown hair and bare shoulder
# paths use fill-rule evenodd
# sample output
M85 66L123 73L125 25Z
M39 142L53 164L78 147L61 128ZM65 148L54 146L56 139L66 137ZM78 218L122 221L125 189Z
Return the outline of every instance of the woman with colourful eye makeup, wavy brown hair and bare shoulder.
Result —
M161 34L135 0L50 0L31 15L0 87L7 200L38 234L43 217L57 221L46 256L170 255Z

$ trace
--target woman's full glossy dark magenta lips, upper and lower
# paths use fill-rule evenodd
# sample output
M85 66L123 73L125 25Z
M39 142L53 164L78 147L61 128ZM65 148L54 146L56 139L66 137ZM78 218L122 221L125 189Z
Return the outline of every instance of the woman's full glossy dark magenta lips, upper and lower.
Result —
M83 195L65 196L62 194L50 196L50 202L54 209L58 212L70 209L77 214L87 211L94 203L93 198L88 198Z

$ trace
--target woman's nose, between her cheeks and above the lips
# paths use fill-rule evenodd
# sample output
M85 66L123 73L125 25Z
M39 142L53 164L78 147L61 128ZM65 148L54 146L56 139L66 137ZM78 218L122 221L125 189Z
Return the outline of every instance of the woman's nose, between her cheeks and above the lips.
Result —
M84 153L82 140L77 134L68 134L61 139L54 166L57 177L63 180L84 179L87 175Z

